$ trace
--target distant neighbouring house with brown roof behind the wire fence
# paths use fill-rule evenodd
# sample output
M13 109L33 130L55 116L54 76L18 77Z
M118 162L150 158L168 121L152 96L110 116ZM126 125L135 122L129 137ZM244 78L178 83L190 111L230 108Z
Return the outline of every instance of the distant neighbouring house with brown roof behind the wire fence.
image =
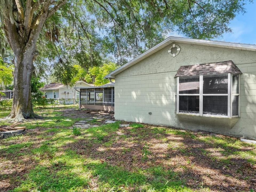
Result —
M69 103L73 103L73 99L79 100L80 87L91 87L93 85L84 81L78 81L71 89L69 86L65 86L62 83L50 83L43 86L40 91L44 92L46 98L51 99L65 99ZM72 101L71 101L72 100Z

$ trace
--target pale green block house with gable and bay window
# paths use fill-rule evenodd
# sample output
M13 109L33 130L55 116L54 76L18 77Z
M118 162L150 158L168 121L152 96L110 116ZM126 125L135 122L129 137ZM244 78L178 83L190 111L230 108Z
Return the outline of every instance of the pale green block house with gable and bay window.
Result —
M168 37L106 78L117 120L256 138L256 45Z

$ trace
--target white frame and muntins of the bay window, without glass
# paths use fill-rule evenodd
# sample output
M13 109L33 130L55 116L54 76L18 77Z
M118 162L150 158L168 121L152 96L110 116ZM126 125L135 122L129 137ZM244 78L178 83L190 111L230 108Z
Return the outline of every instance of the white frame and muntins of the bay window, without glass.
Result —
M218 74L228 74L228 91L227 94L203 94L203 76L218 75ZM207 74L207 75L193 75L199 76L199 94L179 94L179 77L176 77L176 113L177 114L189 114L205 117L240 117L240 103L241 103L241 75L233 73L218 73L218 74ZM233 75L238 75L238 93L233 94ZM184 76L192 77L192 76ZM179 111L179 96L199 96L199 113L185 113ZM227 96L227 115L211 115L203 114L203 96ZM232 97L238 96L238 115L232 115Z

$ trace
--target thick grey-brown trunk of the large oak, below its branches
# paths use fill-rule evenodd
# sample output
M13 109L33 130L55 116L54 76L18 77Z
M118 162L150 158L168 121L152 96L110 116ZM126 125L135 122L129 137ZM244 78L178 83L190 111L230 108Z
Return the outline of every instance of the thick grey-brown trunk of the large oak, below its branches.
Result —
M33 56L35 45L27 47L24 45L21 49L14 51L14 88L13 88L13 105L10 118L15 121L22 121L24 118L39 117L32 108L31 101L31 76L34 72ZM19 51L20 50L20 51Z

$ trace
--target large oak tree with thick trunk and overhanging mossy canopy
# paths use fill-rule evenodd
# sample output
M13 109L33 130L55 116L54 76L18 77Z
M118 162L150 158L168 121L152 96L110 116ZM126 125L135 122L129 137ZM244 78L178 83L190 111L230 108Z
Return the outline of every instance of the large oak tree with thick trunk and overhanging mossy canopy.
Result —
M64 53L68 50L73 53L72 59L87 69L88 63L97 65L102 52L113 54L122 63L152 47L170 31L201 39L231 32L228 24L237 14L245 12L245 3L244 0L1 0L1 28L13 51L15 66L10 118L37 117L32 109L30 82L38 54L47 57L53 51L58 63L68 65L70 59ZM64 37L68 40L59 39ZM42 43L47 39L52 42L52 49Z

